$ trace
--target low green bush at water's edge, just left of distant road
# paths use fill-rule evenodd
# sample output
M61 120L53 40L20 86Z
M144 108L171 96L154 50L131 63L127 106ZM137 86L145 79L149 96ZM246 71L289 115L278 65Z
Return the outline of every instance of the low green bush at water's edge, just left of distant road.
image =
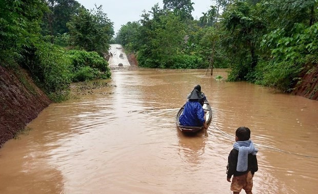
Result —
M98 53L70 50L68 54L72 63L72 82L110 78L108 63Z

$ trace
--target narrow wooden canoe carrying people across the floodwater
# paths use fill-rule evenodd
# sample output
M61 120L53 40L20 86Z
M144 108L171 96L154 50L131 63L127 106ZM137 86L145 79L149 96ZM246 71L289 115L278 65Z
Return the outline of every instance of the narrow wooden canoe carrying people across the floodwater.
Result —
M197 131L200 131L203 129L203 126L201 127L195 127L195 126L184 126L184 125L181 125L179 123L179 118L180 116L182 115L183 113L183 109L185 107L185 104L180 108L180 110L178 111L178 113L176 114L176 126L179 130L181 130L182 132L189 132L189 133L194 133L194 132L197 132ZM211 106L208 102L208 100L205 100L204 101L204 105L203 105L203 109L204 111L206 112L205 114L205 118L206 118L206 123L207 125L210 124L211 120L212 120L212 109L211 109Z

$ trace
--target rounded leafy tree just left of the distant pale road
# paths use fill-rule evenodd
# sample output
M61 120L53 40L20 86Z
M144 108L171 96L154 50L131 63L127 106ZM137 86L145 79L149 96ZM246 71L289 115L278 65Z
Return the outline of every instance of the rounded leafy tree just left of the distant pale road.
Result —
M96 51L102 55L109 49L109 41L114 34L113 23L103 12L102 6L92 9L80 9L67 23L72 46L86 51Z

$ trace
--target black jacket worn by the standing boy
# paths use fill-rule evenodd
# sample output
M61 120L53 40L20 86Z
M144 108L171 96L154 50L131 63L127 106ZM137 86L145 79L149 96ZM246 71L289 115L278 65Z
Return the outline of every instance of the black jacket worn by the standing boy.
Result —
M237 158L238 158L238 150L233 148L228 157L228 164L226 167L227 178L230 179L232 175L233 177L241 176L243 174L246 174L248 171L251 171L251 173L254 174L259 169L257 165L256 155L249 153L247 170L244 172L238 172L236 171Z

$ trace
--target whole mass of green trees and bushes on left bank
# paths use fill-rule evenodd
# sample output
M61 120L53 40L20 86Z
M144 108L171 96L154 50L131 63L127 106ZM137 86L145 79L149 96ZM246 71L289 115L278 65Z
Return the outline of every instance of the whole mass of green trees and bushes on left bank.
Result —
M108 79L104 53L114 34L102 6L74 0L0 1L0 65L28 70L52 101L68 97L71 82Z

